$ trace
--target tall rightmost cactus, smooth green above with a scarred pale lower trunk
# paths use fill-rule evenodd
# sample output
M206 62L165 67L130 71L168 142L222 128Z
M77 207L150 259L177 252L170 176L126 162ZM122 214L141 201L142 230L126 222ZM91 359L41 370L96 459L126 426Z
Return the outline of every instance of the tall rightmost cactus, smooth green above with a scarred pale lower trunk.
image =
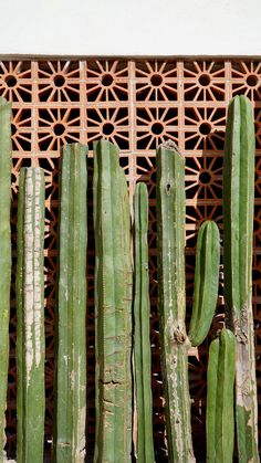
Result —
M225 303L237 339L236 419L239 462L258 462L258 410L252 318L254 126L251 103L229 104L223 165Z

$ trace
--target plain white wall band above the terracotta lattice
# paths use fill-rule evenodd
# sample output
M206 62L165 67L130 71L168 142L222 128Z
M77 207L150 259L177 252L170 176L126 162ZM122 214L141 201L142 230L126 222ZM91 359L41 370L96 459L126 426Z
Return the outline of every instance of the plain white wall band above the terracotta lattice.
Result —
M261 0L1 0L0 54L261 55Z

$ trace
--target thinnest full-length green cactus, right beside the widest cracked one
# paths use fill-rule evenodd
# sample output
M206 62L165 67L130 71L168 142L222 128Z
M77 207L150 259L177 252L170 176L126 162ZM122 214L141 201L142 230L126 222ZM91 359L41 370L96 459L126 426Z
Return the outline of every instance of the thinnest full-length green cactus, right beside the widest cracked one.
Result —
M135 190L135 297L134 359L137 413L138 462L154 462L153 398L150 380L149 293L148 293L148 193L145 183Z

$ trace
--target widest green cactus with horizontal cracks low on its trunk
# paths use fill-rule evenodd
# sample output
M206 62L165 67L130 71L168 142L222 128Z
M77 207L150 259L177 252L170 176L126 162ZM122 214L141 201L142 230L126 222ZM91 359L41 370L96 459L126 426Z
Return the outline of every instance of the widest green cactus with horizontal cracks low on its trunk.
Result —
M118 149L94 145L96 436L95 462L132 452L132 263L129 200Z

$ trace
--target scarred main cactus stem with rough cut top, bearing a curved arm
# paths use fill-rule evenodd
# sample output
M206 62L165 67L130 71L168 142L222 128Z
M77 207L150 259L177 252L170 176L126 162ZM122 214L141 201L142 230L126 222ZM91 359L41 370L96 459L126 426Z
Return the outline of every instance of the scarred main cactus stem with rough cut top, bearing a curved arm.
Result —
M185 328L185 164L176 146L157 150L157 243L161 369L170 462L192 462Z

